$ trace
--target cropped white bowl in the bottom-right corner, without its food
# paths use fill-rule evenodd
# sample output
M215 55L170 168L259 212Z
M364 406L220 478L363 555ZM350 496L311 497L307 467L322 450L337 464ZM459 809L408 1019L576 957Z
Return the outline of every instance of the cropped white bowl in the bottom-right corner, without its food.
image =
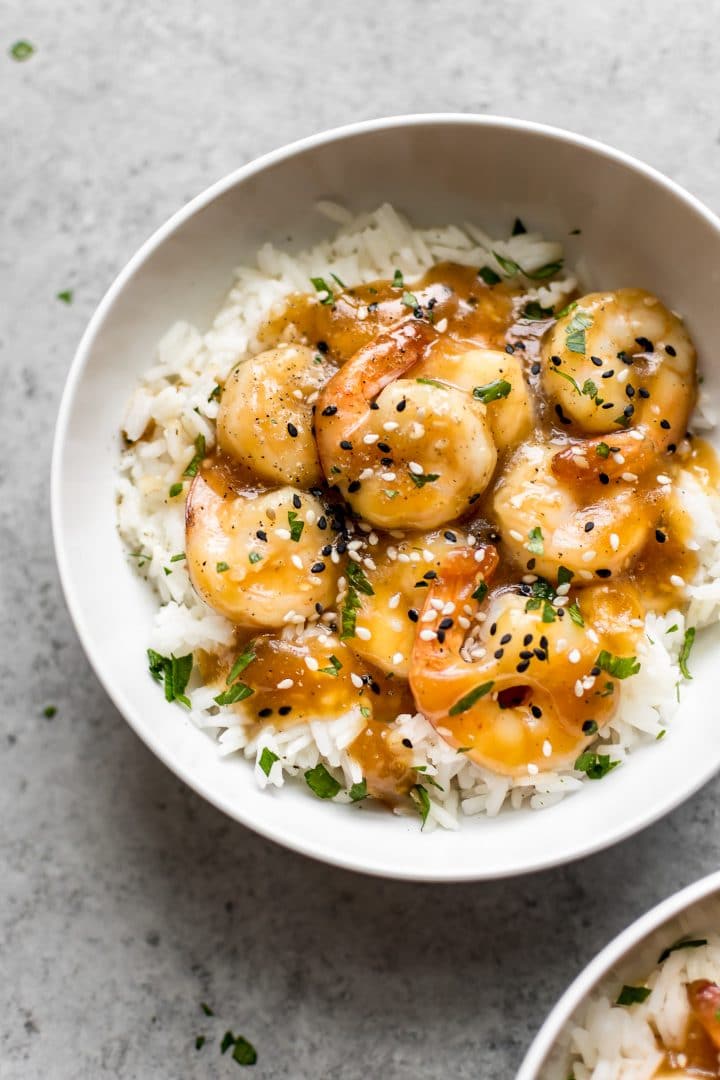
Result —
M663 949L682 936L720 924L720 872L668 896L619 934L566 990L535 1036L516 1080L566 1080L572 1028L582 1024L588 998L633 985L657 963Z

